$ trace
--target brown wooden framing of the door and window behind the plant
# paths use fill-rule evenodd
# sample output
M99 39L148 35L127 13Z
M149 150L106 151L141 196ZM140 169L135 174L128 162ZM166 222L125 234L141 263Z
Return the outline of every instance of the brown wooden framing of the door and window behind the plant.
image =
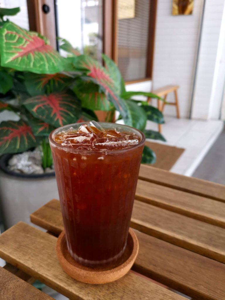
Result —
M149 0L150 1L150 0ZM149 10L149 35L147 48L146 78L127 81L136 83L152 79L155 27L158 0L151 0ZM30 30L37 31L46 36L51 46L56 49L56 25L55 25L55 1L54 0L27 0ZM49 13L42 10L43 4L50 7ZM118 0L103 0L103 53L118 62Z

